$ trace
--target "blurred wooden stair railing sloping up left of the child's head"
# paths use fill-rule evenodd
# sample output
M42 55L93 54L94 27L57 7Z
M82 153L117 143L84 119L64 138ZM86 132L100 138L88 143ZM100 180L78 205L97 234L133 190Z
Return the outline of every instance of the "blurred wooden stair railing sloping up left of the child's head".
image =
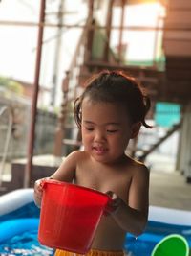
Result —
M69 70L66 71L66 77L63 79L62 91L63 91L63 100L61 105L61 111L58 119L55 141L54 141L54 155L61 156L62 145L77 146L80 142L76 141L77 137L77 128L74 125L74 120L70 118L71 113L71 104L74 102L74 99L79 95L80 89L79 86L79 75L80 68L84 63L85 58L85 45L86 45L86 35L88 32L89 19L84 25L83 31L78 39L78 43L74 52L74 57L72 58ZM70 128L69 128L70 127ZM67 134L70 133L70 134ZM65 149L65 153L66 153Z

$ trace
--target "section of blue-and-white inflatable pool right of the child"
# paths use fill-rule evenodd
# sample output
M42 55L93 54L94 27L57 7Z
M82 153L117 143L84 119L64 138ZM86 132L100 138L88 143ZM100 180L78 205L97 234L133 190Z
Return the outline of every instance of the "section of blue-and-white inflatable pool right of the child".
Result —
M132 256L150 256L154 247L171 234L183 236L191 247L191 212L150 206L145 232L138 238L127 234L124 247Z

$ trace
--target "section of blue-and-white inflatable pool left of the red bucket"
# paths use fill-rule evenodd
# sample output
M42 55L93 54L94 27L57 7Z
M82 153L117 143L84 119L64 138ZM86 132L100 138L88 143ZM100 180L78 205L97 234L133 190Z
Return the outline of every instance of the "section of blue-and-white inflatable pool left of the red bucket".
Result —
M0 255L53 255L53 249L38 243L39 213L32 189L0 197Z

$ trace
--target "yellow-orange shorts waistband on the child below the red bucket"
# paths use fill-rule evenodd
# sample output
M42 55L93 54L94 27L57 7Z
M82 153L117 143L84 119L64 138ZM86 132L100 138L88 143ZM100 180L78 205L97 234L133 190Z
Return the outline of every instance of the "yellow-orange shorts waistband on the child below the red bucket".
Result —
M55 251L54 256L81 256L82 254L77 254L70 251L59 250ZM88 253L85 254L86 256L124 256L123 250L97 250L91 249Z

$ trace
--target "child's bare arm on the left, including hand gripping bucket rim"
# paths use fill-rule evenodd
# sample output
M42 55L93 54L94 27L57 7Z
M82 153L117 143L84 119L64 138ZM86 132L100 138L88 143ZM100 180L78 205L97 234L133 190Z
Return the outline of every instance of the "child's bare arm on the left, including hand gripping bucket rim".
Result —
M61 163L60 167L55 171L55 173L51 177L41 178L35 181L34 183L34 202L40 207L43 188L42 182L44 179L53 178L60 181L72 182L75 175L76 163L79 157L80 152L74 151L69 154L64 161Z

